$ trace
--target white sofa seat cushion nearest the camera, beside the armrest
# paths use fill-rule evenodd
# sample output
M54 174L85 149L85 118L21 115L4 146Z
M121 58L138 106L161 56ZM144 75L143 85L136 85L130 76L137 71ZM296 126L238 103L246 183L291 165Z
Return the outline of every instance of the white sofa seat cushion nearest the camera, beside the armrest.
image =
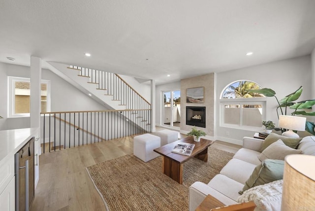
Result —
M213 177L208 185L235 201L241 195L238 193L239 190L244 186L242 183L220 174Z

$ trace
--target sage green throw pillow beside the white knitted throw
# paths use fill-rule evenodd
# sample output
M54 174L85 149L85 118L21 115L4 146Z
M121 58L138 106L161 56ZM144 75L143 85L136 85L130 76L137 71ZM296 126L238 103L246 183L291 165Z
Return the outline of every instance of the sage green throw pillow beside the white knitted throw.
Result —
M243 190L239 193L257 186L266 184L272 181L283 179L284 176L284 161L266 159L260 165L256 166L250 178L245 182Z

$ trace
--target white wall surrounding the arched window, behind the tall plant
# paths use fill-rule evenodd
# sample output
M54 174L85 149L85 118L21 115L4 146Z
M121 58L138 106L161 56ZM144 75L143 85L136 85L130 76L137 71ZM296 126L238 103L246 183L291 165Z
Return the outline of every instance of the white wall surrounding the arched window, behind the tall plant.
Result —
M221 141L238 142L244 136L253 136L254 131L220 127L220 95L223 88L236 80L252 80L262 87L271 88L276 92L279 100L303 86L303 93L299 100L312 99L312 70L311 56L303 56L278 62L252 66L239 70L217 73L216 86L216 137ZM313 83L314 84L314 83ZM313 88L314 89L314 88ZM267 98L266 120L272 120L278 125L276 113L277 101ZM226 136L229 132L229 136Z

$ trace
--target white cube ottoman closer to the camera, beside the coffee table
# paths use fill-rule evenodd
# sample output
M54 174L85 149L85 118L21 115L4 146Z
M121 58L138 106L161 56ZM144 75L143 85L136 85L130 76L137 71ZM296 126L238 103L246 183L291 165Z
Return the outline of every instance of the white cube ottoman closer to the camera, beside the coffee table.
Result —
M159 156L153 150L160 147L160 138L151 134L143 134L133 138L133 154L144 162Z

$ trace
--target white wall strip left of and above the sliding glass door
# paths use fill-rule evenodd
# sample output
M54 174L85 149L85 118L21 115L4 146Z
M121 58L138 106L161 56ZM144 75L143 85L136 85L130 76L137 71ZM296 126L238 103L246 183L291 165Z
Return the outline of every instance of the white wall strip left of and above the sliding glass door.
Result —
M181 82L172 82L156 86L156 125L162 124L162 104L164 98L162 98L162 92L181 90Z

